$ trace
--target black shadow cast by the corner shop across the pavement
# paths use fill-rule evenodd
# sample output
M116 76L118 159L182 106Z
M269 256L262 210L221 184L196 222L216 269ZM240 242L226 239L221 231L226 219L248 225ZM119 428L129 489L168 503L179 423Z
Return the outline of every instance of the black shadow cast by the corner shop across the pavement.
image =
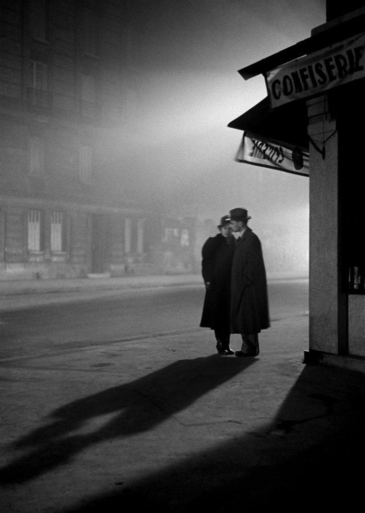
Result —
M307 366L272 423L67 512L355 511L365 490L363 385L362 374Z

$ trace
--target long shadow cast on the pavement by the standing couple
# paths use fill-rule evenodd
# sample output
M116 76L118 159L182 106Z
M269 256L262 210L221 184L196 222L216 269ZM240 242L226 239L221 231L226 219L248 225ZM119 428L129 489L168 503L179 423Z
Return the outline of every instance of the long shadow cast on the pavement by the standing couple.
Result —
M16 449L30 449L30 452L3 467L0 480L3 483L27 481L68 462L92 444L147 431L255 361L218 354L179 360L136 381L62 406L51 413L50 424L12 444ZM85 435L70 434L88 420L113 412L117 415L100 429Z

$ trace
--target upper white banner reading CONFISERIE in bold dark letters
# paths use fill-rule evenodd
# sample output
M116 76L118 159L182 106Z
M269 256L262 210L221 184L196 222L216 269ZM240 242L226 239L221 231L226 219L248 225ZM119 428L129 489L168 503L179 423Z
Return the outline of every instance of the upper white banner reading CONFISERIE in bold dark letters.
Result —
M365 77L365 34L311 53L266 73L272 107Z

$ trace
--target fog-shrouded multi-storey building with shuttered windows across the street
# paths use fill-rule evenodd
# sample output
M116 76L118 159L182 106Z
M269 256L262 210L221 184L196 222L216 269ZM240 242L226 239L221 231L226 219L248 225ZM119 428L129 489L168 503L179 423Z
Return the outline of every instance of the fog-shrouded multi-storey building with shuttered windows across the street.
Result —
M162 218L108 145L137 101L123 6L1 2L2 279L164 272L152 254Z

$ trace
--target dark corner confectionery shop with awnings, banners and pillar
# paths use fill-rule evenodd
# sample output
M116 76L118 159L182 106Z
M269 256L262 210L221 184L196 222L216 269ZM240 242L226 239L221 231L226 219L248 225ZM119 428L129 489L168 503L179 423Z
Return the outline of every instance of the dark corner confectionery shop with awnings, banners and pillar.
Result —
M246 79L262 73L268 98L228 126L256 137L256 151L243 142L238 160L309 175L310 346L304 362L365 371L365 8L358 4L328 9L328 22L308 40L240 70ZM285 161L285 151L292 159Z

